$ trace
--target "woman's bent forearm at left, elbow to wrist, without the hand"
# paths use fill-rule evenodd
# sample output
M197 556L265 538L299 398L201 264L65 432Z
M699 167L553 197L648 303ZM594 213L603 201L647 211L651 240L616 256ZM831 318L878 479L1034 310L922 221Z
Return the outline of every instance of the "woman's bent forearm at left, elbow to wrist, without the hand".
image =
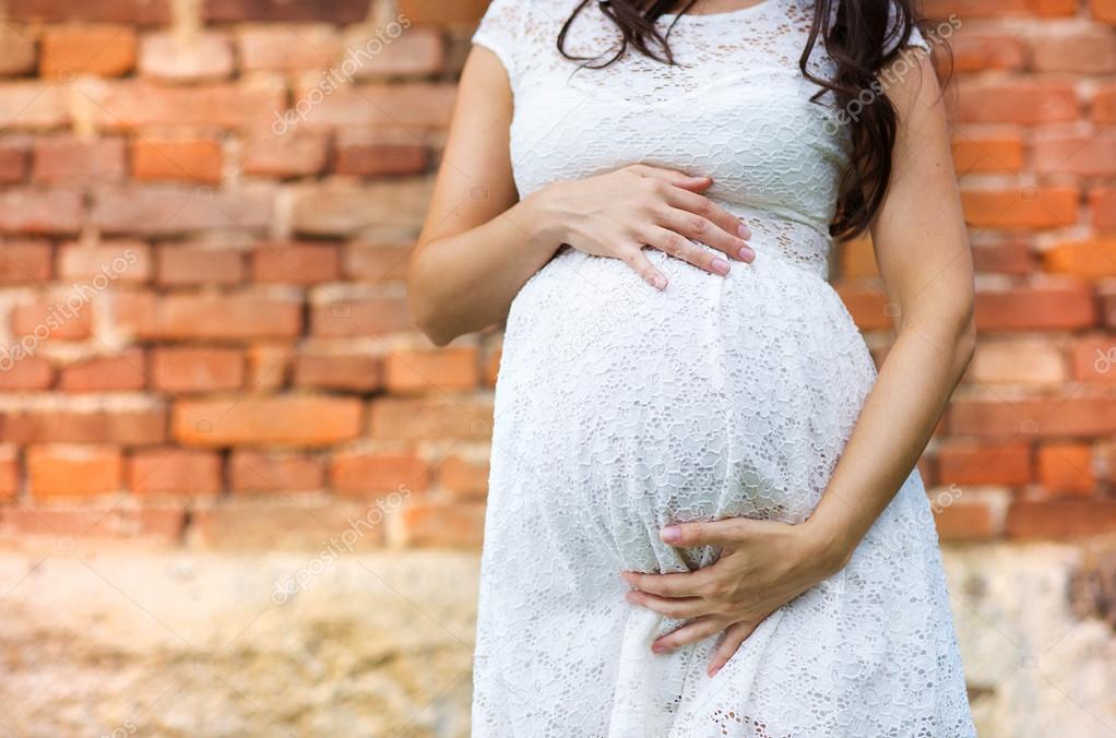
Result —
M421 242L407 277L415 322L439 345L500 323L560 243L530 198L482 226Z

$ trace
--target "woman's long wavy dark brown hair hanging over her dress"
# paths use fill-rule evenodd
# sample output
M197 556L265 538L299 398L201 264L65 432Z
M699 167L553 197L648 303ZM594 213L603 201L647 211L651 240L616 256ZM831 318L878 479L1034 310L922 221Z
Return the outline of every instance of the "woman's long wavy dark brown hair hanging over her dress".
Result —
M598 1L605 13L620 31L619 49L612 58L595 60L573 56L566 51L566 38L574 20ZM664 64L674 64L667 41L674 22L663 32L658 19L668 12L681 17L698 0L581 0L566 20L558 35L558 50L568 59L584 61L586 67L600 69L618 61L628 50ZM767 1L767 0L761 0ZM814 21L806 48L798 66L802 76L820 87L812 99L831 92L838 109L855 105L862 93L877 89L877 75L892 61L911 39L915 28L923 27L914 0L812 0ZM837 11L834 13L834 4ZM831 79L822 79L808 70L807 64L818 38L836 65ZM886 44L885 40L891 41ZM897 42L895 42L897 41ZM852 141L852 165L840 186L837 214L830 233L837 238L852 238L864 232L872 222L887 192L892 174L892 148L898 127L895 106L886 95L876 95L869 105L857 106L857 115L846 116Z

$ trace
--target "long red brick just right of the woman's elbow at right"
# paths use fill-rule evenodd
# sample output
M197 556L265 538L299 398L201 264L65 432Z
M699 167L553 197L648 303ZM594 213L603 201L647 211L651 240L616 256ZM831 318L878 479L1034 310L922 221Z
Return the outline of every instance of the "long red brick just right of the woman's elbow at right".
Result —
M1068 330L1096 323L1096 304L1086 285L1018 287L977 294L977 325L982 330Z

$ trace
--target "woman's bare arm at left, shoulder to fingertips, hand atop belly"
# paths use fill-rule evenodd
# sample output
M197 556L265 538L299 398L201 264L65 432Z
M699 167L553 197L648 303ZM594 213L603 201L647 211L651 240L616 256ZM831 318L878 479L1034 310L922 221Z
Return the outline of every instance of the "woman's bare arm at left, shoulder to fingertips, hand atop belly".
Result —
M411 310L434 343L502 322L523 284L564 243L622 259L658 289L666 279L645 246L722 276L730 260L754 258L747 227L701 194L713 184L706 176L635 164L556 182L520 201L509 155L512 94L499 58L475 48L459 90L407 275Z

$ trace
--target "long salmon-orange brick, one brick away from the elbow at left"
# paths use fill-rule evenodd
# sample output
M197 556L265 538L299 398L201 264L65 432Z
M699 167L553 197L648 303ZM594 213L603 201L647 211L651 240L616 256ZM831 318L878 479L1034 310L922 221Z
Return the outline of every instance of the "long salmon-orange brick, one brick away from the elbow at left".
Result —
M140 339L242 341L297 336L301 304L295 299L238 295L127 294L116 297L119 327Z

